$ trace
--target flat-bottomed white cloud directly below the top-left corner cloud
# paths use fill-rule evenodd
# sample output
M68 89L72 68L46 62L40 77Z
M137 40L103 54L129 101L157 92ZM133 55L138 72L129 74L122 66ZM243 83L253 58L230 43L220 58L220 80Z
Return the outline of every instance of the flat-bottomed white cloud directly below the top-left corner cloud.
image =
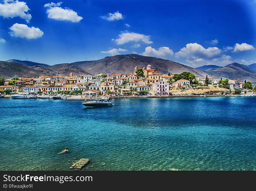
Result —
M10 30L13 32L9 32L12 37L20 37L27 39L35 39L40 38L44 34L39 28L28 27L26 24L18 24L15 23L10 27Z

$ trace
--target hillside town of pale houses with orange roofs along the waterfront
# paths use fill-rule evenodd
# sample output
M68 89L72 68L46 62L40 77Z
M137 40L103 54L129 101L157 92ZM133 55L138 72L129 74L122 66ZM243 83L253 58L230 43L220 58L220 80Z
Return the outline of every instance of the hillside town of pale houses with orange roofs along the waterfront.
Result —
M2 84L1 84L2 83ZM129 74L86 74L83 76L36 76L34 78L15 77L13 79L0 78L0 93L13 94L29 92L30 94L74 94L81 97L99 97L109 95L173 95L172 90L199 90L203 88L221 88L217 91L229 90L234 94L255 94L250 82L233 79L217 79L205 76L200 78L190 72L181 74L160 74L157 69L147 65L139 69L137 66ZM213 91L214 92L214 91ZM215 91L216 94L216 91Z

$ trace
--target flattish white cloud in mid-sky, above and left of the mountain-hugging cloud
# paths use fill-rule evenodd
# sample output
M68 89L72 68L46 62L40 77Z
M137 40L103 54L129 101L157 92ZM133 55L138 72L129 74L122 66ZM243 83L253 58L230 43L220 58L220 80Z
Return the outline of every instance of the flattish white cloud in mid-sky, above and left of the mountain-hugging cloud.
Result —
M115 42L117 44L125 44L130 41L134 41L134 42L142 41L142 42L145 42L146 44L153 43L152 41L150 41L150 36L146 36L139 33L122 33L119 35L119 37L120 38L115 39Z

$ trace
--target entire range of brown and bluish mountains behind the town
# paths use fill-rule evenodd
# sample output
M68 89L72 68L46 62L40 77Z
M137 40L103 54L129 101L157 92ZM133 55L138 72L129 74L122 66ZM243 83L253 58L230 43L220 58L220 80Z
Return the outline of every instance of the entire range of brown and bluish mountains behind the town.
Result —
M256 71L251 68L255 68L256 64L249 66L241 65L239 63L232 63L230 65L221 67L217 65L208 65L198 68L192 68L171 60L164 60L161 58L141 56L137 54L127 54L127 55L116 55L107 56L100 60L92 61L81 61L74 63L63 63L56 65L47 65L42 63L35 63L31 61L21 61L21 60L7 60L0 61L0 77L13 78L16 76L22 77L33 77L38 75L69 75L70 72L73 75L83 75L83 74L128 74L134 72L134 67L138 68L147 67L147 65L152 65L152 68L156 68L161 74L179 74L181 72L191 72L199 77L213 78L229 78L237 79L240 81L256 81Z

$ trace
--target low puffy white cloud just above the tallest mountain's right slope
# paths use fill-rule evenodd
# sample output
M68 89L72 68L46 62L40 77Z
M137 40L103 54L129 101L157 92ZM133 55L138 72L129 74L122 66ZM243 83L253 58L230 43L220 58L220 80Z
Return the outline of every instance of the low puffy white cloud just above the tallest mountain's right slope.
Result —
M141 55L166 58L167 56L173 55L173 50L171 50L169 47L160 47L158 50L152 47L146 47L145 51L141 53Z

